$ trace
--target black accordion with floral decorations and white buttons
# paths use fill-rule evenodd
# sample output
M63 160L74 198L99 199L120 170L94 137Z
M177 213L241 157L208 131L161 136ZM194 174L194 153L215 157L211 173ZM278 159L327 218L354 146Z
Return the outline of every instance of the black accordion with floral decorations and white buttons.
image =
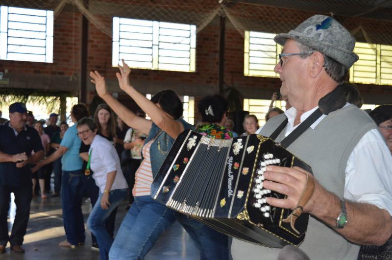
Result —
M229 236L268 247L299 245L308 214L290 223L292 212L272 207L267 197L284 195L263 189L267 165L311 168L273 140L252 134L230 140L181 133L151 185L151 197Z

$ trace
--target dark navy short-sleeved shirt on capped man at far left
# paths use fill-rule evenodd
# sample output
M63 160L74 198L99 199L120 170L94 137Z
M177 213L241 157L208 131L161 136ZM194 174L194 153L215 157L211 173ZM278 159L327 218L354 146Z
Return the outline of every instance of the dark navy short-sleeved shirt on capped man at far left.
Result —
M44 150L38 132L30 127L25 127L17 136L10 127L9 121L0 125L0 151L5 154L18 154L25 152L31 156L31 152ZM17 168L16 163L0 163L0 185L11 187L26 187L32 185L31 170L28 165Z

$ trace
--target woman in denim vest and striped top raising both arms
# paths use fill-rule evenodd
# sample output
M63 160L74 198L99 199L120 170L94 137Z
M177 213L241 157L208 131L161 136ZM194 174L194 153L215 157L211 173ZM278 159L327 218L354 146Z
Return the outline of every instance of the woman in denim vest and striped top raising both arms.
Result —
M150 197L153 177L166 158L174 139L193 128L182 116L182 102L171 90L161 91L148 100L129 81L130 68L123 62L116 73L120 88L130 95L151 120L136 116L107 92L105 79L98 71L90 72L98 95L130 127L147 135L143 161L136 171L134 203L125 215L109 252L111 260L144 259L158 237L175 220L174 212Z

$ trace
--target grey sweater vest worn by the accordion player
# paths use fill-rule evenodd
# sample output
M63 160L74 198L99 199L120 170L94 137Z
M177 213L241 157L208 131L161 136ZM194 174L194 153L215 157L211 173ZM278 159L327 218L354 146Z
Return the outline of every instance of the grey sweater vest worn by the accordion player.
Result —
M284 119L284 115L271 118L261 135L270 136ZM349 105L330 113L315 129L307 129L287 150L312 167L315 178L325 189L343 197L348 157L361 138L376 127L365 112ZM283 140L284 133L285 129L276 138L277 142ZM356 260L359 252L358 245L312 216L299 248L311 260ZM279 250L235 238L231 247L234 260L276 260Z

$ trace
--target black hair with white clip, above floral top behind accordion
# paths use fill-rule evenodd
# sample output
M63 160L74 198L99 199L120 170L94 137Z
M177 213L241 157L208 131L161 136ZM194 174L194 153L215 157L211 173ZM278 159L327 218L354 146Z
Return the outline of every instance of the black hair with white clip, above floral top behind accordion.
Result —
M227 113L228 102L221 95L207 95L199 101L197 108L203 122L216 123L221 122L223 115Z

